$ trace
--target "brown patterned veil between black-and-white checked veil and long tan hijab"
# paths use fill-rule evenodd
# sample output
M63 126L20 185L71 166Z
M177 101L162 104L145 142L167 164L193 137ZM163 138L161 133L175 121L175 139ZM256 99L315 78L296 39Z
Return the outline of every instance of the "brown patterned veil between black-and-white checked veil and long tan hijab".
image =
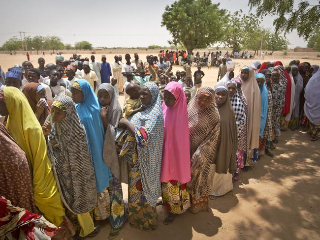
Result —
M248 152L248 128L249 128L249 106L248 106L248 101L246 96L243 94L241 90L241 86L238 85L238 90L237 90L238 96L241 100L241 103L245 109L245 114L246 114L246 120L245 124L243 125L243 128L240 132L239 135L239 141L238 141L238 150L243 150L245 152Z

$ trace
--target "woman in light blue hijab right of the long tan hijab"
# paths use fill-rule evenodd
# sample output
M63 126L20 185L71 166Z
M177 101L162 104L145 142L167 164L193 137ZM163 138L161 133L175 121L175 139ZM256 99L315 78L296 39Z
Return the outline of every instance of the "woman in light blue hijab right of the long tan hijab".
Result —
M261 113L260 113L260 133L259 133L259 151L265 148L265 139L263 138L264 126L267 121L268 114L268 90L265 85L265 76L262 73L256 74L261 95Z

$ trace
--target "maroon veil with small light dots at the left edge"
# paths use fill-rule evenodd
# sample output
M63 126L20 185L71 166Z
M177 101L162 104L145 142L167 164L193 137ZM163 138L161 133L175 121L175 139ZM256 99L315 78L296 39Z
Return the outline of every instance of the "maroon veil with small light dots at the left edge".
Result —
M26 153L0 123L0 193L14 206L38 213L32 192L32 177Z

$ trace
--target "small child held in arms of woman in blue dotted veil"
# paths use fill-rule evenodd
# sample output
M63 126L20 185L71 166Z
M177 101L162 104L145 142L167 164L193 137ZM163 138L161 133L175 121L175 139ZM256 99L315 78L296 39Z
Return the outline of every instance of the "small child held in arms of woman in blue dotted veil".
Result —
M132 75L131 75L132 76ZM128 119L131 115L143 110L140 101L140 86L134 83L129 83L126 88L126 93L129 95L125 101L123 118Z

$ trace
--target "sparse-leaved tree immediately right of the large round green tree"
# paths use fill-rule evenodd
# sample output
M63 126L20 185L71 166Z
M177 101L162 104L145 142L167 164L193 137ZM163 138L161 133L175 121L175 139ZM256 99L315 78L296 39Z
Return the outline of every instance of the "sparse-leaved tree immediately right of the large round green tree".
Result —
M259 27L259 24L254 14L242 15L242 10L236 11L226 21L222 42L226 47L232 48L233 52L240 51L246 34L250 34L252 29Z

